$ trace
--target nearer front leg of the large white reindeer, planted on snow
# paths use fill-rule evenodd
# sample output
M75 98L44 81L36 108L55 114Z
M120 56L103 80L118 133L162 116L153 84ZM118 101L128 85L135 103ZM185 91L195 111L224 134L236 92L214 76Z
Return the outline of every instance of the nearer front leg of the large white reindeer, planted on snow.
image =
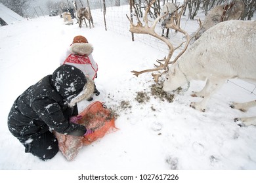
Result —
M190 107L204 112L211 95L213 95L213 93L215 93L221 86L223 86L223 84L224 80L215 80L213 78L209 79L209 84L207 84L207 86L205 85L205 88L203 88L203 93L205 93L205 95L202 101L200 103L191 103Z

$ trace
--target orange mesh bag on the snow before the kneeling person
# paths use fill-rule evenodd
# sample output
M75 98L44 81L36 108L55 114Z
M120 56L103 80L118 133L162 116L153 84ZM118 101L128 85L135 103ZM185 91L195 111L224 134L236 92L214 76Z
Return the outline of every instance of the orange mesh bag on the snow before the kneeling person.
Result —
M82 146L89 145L104 137L107 133L117 130L112 111L104 107L99 101L91 103L79 115L82 118L77 123L84 125L87 129L92 129L93 133L86 135L86 137L75 137L55 132L55 136L58 139L58 147L69 161L72 161L77 156Z

